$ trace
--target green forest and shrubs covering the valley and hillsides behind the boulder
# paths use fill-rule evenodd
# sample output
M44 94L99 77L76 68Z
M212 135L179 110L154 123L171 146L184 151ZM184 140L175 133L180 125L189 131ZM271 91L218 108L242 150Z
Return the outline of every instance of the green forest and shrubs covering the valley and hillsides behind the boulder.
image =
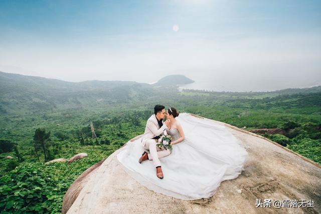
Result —
M176 86L68 83L0 72L1 212L60 213L70 184L142 134L156 103L247 130L282 128L285 135L263 136L321 163L321 87L179 92ZM71 164L45 164L80 152L88 157Z

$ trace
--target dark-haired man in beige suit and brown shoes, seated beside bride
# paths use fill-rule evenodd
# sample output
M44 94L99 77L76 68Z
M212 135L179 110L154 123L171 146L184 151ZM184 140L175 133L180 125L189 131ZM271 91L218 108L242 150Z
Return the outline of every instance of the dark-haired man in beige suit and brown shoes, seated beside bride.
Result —
M165 106L155 105L154 114L148 118L145 127L145 133L141 138L142 146L144 149L149 150L150 154L144 151L138 161L141 163L143 160L152 160L154 166L156 167L156 176L161 179L163 179L164 175L159 158L165 157L171 153L169 149L161 149L156 146L159 135L161 135L170 124L169 119L167 119L163 124L165 112Z

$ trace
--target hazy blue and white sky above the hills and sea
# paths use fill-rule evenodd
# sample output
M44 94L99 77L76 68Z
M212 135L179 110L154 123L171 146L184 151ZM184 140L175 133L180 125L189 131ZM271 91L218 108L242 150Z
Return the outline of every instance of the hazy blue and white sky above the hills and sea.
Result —
M0 1L0 71L71 82L321 85L321 1ZM246 86L246 87L245 87Z

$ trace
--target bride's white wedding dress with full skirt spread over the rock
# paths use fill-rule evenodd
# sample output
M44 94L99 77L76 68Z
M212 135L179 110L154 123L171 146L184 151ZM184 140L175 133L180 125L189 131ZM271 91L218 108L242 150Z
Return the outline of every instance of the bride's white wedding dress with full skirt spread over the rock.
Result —
M241 174L248 153L224 125L188 113L180 113L176 119L183 127L185 139L173 145L170 155L159 158L163 179L156 176L152 160L138 163L143 151L149 153L142 147L141 137L128 141L117 159L131 177L155 192L183 200L211 197L222 181ZM181 137L175 128L167 132L173 141Z

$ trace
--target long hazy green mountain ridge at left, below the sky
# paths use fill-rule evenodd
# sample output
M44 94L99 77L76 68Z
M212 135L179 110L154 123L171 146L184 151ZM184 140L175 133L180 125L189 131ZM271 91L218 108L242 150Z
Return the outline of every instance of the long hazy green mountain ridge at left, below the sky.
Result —
M153 87L147 83L98 80L75 83L0 72L0 114L130 104L153 94Z

